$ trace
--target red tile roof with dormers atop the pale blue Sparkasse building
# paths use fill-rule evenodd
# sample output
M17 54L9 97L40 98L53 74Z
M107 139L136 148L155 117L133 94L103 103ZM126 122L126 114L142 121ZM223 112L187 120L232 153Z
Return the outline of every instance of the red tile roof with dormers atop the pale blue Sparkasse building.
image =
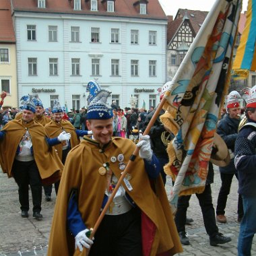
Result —
M0 0L2 1L2 0ZM73 0L46 0L46 8L38 8L37 0L11 0L14 11L36 11L47 13L76 13L92 15L108 15L119 17L133 17L145 19L167 20L167 17L158 0L149 0L147 4L147 14L142 15L137 11L133 3L136 0L115 1L115 12L106 11L106 1L102 3L98 0L98 11L90 11L90 1L81 1L81 11L73 9Z

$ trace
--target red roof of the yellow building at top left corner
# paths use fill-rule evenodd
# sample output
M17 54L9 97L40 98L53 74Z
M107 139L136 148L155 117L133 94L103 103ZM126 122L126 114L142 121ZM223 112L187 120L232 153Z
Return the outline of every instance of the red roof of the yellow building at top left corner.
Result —
M0 0L0 43L15 42L11 4L9 0Z

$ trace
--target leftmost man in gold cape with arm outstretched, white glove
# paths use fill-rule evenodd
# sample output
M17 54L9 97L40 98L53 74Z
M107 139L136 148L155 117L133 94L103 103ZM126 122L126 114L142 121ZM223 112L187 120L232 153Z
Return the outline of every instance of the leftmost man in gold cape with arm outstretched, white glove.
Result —
M28 218L30 185L33 217L42 219L42 183L51 184L61 179L63 164L51 146L69 139L70 134L59 134L49 139L44 127L34 121L36 106L31 96L23 96L22 119L13 120L0 132L0 164L8 177L13 177L19 187L22 217Z

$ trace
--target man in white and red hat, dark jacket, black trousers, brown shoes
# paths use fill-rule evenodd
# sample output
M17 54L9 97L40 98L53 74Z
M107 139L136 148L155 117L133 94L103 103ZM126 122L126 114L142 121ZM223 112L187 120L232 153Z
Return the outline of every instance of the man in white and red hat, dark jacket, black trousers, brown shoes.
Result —
M238 133L238 125L241 120L239 99L241 99L241 96L236 91L232 91L228 94L226 100L226 115L218 122L217 126L217 133L222 137L230 152L230 163L227 166L219 167L222 185L217 200L216 220L220 223L226 223L225 208L234 175L236 179L238 179L238 174L234 167L234 143ZM243 199L241 195L238 195L237 209L237 221L241 222L243 218Z

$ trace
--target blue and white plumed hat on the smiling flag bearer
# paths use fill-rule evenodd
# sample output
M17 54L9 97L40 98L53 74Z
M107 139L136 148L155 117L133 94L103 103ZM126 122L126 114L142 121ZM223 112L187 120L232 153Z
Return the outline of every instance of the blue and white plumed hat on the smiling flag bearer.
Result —
M110 119L113 117L112 108L108 105L107 100L111 92L101 89L100 85L95 81L90 81L86 87L89 92L87 102L87 118L88 119Z

